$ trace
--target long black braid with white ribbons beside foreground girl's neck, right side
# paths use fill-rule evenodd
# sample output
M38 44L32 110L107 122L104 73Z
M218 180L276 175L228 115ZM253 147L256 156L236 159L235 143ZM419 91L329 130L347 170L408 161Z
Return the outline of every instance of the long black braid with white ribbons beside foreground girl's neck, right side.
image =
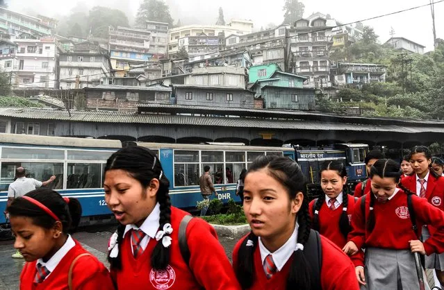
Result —
M163 190L162 184L157 191L157 201L160 205L160 219L159 219L159 230L163 230L163 225L166 223L171 223L171 201L170 194L168 191ZM179 229L176 229L179 230ZM165 248L162 244L162 240L159 240L154 247L153 253L151 254L151 266L156 270L165 270L168 263L170 263L170 248Z

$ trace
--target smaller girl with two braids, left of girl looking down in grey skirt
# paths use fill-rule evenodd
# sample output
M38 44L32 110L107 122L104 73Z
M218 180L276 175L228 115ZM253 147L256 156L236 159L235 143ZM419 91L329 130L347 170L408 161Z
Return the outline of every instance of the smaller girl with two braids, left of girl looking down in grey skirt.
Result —
M343 162L327 160L322 164L320 175L324 194L309 205L313 230L329 238L346 254L354 254L357 249L345 247L354 210L354 197L343 191L347 189L347 170Z

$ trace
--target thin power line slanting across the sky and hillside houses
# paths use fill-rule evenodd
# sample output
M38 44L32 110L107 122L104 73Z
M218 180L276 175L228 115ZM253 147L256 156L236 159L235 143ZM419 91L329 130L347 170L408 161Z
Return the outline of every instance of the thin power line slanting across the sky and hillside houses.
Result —
M286 37L283 37L282 39L283 40L288 40L288 39L291 39L291 38L295 38L296 39L296 37L303 36L303 35L309 35L309 33L318 33L318 32L322 32L322 31L329 31L329 30L331 30L333 28L340 28L342 26L356 24L358 22L366 22L366 21L369 21L369 20L379 19L379 18L382 18L382 17L388 17L388 16L391 16L391 15L396 15L396 14L400 14L400 13L403 13L403 12L407 12L407 11L411 11L411 10L416 10L416 9L419 9L419 8L424 8L424 7L427 7L427 6L432 6L434 4L438 4L438 3L441 3L441 2L444 2L444 0L433 1L433 2L428 3L428 4L423 4L423 5L420 5L420 6L414 6L414 7L411 7L411 8L406 8L404 10L397 10L395 12L390 12L390 13L386 13L386 14L383 14L383 15L369 17L369 18L357 20L357 21L354 21L354 22L349 22L349 23L340 24L340 25L336 25L336 26L330 26L328 28L320 28L318 30L314 30L314 31L306 32L306 33L297 33L297 35L286 36ZM255 45L257 45L257 44L265 44L265 43L270 42L270 41L272 41L272 40L265 40L263 42L257 42ZM233 51L233 50L240 49L240 48L241 48L241 46L238 46L238 47L232 48L232 49L222 49L220 51L217 51L216 53L222 53L222 52L226 52L226 51ZM212 55L212 54L215 54L215 52L213 52L213 53L204 53L201 56L209 56L209 55ZM180 60L190 60L190 58L179 58L179 59L176 58L176 59L174 59L172 61L180 61ZM120 69L120 70L116 70L115 72L131 71L131 69L140 69L140 68L145 68L147 66L148 65L142 65L142 66L139 66L139 67L132 67L130 69ZM88 75L88 76L101 76L102 74L104 74L104 73L91 74L91 75ZM82 76L82 77L85 77L85 76ZM30 84L30 85L34 85L34 84L38 84L38 83L47 83L47 82L51 82L51 81L72 80L72 79L75 79L75 78L76 77L72 77L72 78L56 78L54 80L44 80L44 81L40 81L40 82L35 82L35 83ZM3 86L3 87L4 86L11 86L11 87L13 87L13 86L16 86L16 85L28 85L28 83L15 83L15 84L7 84L7 85L1 85L1 86ZM40 88L40 87L36 87L36 88Z

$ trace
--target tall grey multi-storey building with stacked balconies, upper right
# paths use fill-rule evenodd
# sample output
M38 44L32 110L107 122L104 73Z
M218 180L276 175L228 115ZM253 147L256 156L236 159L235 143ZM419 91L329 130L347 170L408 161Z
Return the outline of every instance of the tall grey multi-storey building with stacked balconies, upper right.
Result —
M331 87L328 43L335 25L334 19L315 15L297 20L290 28L289 48L293 53L290 68L293 73L308 78L304 87Z

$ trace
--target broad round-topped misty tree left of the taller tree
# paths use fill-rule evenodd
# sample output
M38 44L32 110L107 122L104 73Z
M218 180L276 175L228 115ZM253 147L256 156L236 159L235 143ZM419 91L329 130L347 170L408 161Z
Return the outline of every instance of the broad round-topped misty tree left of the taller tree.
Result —
M108 38L109 26L129 26L128 17L118 9L95 6L88 15L88 31L94 37Z

